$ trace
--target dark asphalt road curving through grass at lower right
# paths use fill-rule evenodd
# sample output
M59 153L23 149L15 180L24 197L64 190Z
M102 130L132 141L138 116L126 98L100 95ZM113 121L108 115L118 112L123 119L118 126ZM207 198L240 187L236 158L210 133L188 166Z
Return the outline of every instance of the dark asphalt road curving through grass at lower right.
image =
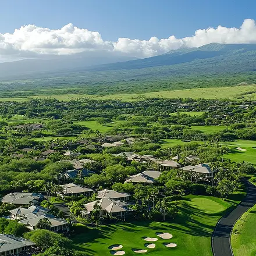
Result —
M256 187L244 180L247 187L247 195L232 212L225 215L216 225L215 232L212 236L212 251L214 256L233 256L230 246L230 236L232 227L237 219L248 209L256 204Z

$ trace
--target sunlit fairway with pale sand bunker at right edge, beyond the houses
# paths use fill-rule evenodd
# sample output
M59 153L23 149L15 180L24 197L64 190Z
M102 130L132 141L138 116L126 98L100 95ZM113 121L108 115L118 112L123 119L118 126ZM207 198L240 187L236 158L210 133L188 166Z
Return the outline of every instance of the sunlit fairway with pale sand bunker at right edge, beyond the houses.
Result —
M225 158L229 158L230 160L236 162L246 161L256 164L256 141L237 140L222 144L230 147L230 152L224 155ZM237 150L237 147L244 148L246 151Z

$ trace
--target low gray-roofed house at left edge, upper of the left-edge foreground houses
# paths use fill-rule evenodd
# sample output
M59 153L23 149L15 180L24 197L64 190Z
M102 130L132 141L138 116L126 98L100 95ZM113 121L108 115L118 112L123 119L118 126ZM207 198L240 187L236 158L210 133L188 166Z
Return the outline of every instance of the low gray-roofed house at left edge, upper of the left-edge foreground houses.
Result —
M36 193L15 192L9 193L2 198L2 203L15 204L16 206L37 204L42 201L44 195Z

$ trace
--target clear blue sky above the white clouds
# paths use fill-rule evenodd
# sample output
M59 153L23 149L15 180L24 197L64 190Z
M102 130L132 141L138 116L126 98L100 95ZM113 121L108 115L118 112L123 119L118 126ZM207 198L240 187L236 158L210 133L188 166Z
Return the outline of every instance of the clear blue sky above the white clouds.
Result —
M25 24L59 29L73 23L111 41L182 38L210 26L240 27L256 18L255 9L255 0L0 0L0 33Z

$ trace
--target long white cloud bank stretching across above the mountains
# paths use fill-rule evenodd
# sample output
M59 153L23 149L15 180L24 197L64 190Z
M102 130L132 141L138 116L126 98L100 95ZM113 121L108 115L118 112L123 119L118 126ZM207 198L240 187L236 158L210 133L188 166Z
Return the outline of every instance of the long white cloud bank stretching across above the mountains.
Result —
M79 29L67 24L61 29L51 30L35 25L22 26L12 34L0 33L0 56L8 58L31 58L38 55L67 55L86 51L121 52L145 58L163 54L180 47L200 47L211 42L222 44L256 43L256 24L253 19L244 20L240 28L200 29L191 37L138 40L119 38L104 41L97 31Z

